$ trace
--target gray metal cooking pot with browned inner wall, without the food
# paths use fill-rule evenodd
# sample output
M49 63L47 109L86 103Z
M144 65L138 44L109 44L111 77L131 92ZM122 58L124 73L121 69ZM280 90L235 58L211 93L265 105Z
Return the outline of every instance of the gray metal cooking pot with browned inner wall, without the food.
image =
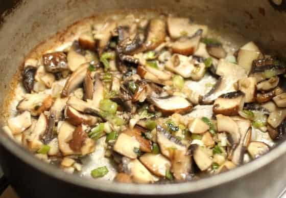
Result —
M17 3L14 9L7 11ZM76 20L114 9L159 9L193 16L222 35L235 34L235 42L256 41L266 51L286 52L284 0L275 6L267 0L27 0L0 1L6 10L0 27L0 103L25 55L37 43ZM280 3L279 1L275 1ZM7 6L7 7L6 7ZM0 9L0 11L1 11ZM237 36L238 35L238 36ZM8 102L9 103L9 102ZM6 104L7 105L7 104ZM4 105L5 106L5 105ZM4 117L4 114L2 114ZM1 131L2 132L2 131ZM87 180L68 175L35 159L0 134L1 165L22 197L276 197L286 182L286 142L266 156L208 179L172 185L135 185Z

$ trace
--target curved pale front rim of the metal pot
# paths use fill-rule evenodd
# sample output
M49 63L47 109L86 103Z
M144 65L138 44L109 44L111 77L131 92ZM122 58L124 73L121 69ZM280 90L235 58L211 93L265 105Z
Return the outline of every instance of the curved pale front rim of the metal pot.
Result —
M35 158L31 152L16 144L10 139L4 131L0 130L0 143L13 155L17 156L23 162L31 165L33 168L41 171L51 177L64 181L69 184L74 184L80 187L89 188L92 190L100 190L105 192L122 193L122 194L138 194L138 195L170 195L170 194L182 194L196 191L202 191L218 185L231 182L233 180L244 177L254 171L258 171L259 168L264 167L286 152L286 142L274 147L266 155L237 167L233 170L223 172L217 175L213 175L209 178L200 179L197 181L190 181L180 184L123 184L112 183L108 181L97 182L93 179L86 179L79 177L79 175L68 174L58 167L51 166L37 158ZM179 190L178 190L179 189Z

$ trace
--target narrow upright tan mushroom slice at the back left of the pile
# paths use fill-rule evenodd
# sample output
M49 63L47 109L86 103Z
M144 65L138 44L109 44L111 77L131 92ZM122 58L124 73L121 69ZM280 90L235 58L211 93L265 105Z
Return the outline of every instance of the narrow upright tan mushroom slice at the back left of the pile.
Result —
M109 40L112 37L112 32L115 30L117 24L114 20L108 20L103 28L100 30L102 38L99 39L98 43L98 53L101 55L107 48Z

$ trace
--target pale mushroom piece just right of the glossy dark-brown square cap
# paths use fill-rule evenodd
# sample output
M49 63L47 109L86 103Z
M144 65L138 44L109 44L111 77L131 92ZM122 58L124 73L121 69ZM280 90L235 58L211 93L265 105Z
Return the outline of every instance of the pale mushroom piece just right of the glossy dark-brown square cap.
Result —
M82 64L87 62L87 59L82 53L78 42L73 43L73 46L71 46L67 53L66 59L68 63L68 69L72 72L75 72Z

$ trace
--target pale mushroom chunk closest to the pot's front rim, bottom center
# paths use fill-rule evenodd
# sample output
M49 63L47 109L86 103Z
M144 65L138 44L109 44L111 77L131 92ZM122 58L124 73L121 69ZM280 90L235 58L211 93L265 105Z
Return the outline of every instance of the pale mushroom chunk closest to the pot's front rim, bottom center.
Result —
M128 167L130 167L130 174L133 182L137 184L149 184L159 180L137 159L131 160Z

